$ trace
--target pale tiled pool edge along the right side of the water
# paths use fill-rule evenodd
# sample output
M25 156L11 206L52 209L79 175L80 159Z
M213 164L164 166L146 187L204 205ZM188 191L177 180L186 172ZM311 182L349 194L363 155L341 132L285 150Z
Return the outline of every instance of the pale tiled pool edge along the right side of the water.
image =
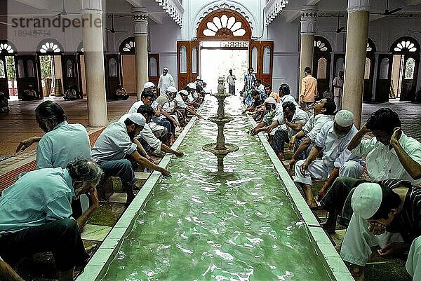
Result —
M257 125L250 115L248 115L248 120L253 127ZM293 201L296 210L305 221L305 224L309 229L309 238L312 240L312 244L316 249L317 255L321 257L321 262L330 275L331 280L354 281L354 277L352 277L351 273L349 273L345 263L340 258L338 252L336 252L335 247L333 247L326 233L323 231L323 228L321 228L319 221L317 221L316 217L314 217L313 212L305 202L297 186L295 186L294 181L290 178L290 174L288 174L278 156L274 153L272 147L267 141L267 138L262 132L258 134L258 137L260 142L262 142L263 147L265 147L269 158L272 160L281 181L285 185L285 188L288 191L287 195Z

